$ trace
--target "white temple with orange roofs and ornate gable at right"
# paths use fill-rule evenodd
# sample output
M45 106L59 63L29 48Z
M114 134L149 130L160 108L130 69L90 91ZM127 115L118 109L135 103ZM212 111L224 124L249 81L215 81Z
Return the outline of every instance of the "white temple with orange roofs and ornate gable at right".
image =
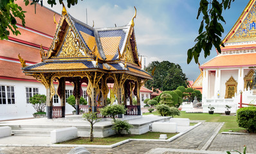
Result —
M256 66L256 3L250 0L241 16L223 40L221 53L200 68L203 71L203 112L208 105L223 113L226 105L232 112L239 99L250 103L253 96L253 73Z

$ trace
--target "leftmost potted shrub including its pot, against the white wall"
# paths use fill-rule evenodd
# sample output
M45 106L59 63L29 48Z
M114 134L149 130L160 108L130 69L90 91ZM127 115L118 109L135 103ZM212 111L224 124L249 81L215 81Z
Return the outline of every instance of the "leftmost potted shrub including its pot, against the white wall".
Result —
M44 94L35 94L30 98L30 103L32 103L33 108L37 111L33 114L33 117L46 117L46 112L44 112L44 108L46 107L46 96Z

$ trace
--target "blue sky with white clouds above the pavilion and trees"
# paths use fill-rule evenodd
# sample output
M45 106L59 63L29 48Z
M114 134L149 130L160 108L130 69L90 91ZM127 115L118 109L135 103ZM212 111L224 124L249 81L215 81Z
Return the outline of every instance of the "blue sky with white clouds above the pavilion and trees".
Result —
M221 39L231 30L248 2L235 0L231 8L223 12L226 24L222 23ZM129 24L134 6L137 9L134 30L138 53L147 56L148 62L168 60L179 64L188 80L195 81L200 74L199 67L194 60L187 64L187 51L194 46L201 23L200 17L196 19L199 0L78 0L71 8L66 4L66 9L75 19L86 23L87 8L87 24L93 26L94 21L95 28L104 28ZM61 13L62 5L57 4L51 10ZM214 48L206 58L202 51L199 63L202 65L216 55Z

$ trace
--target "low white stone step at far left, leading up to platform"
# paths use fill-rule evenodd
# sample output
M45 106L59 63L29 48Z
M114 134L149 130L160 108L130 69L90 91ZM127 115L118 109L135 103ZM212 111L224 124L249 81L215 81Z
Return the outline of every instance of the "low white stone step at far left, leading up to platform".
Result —
M44 136L50 137L51 131L44 130L12 130L15 136Z

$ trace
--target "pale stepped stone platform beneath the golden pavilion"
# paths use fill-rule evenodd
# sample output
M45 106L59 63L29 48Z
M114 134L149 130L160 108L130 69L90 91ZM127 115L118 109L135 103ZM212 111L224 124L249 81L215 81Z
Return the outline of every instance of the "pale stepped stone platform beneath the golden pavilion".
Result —
M132 134L142 134L149 132L150 126L156 121L169 121L170 117L161 116L124 116L122 120L127 120L130 124L133 124L134 128L131 129ZM94 136L95 137L108 137L114 135L112 130L112 119L104 118L95 123ZM57 119L24 119L15 121L2 121L0 126L10 126L12 133L15 136L49 136L52 130L59 128L67 128L75 126L78 128L78 137L89 137L90 124L84 121L82 115L66 116L65 118Z

